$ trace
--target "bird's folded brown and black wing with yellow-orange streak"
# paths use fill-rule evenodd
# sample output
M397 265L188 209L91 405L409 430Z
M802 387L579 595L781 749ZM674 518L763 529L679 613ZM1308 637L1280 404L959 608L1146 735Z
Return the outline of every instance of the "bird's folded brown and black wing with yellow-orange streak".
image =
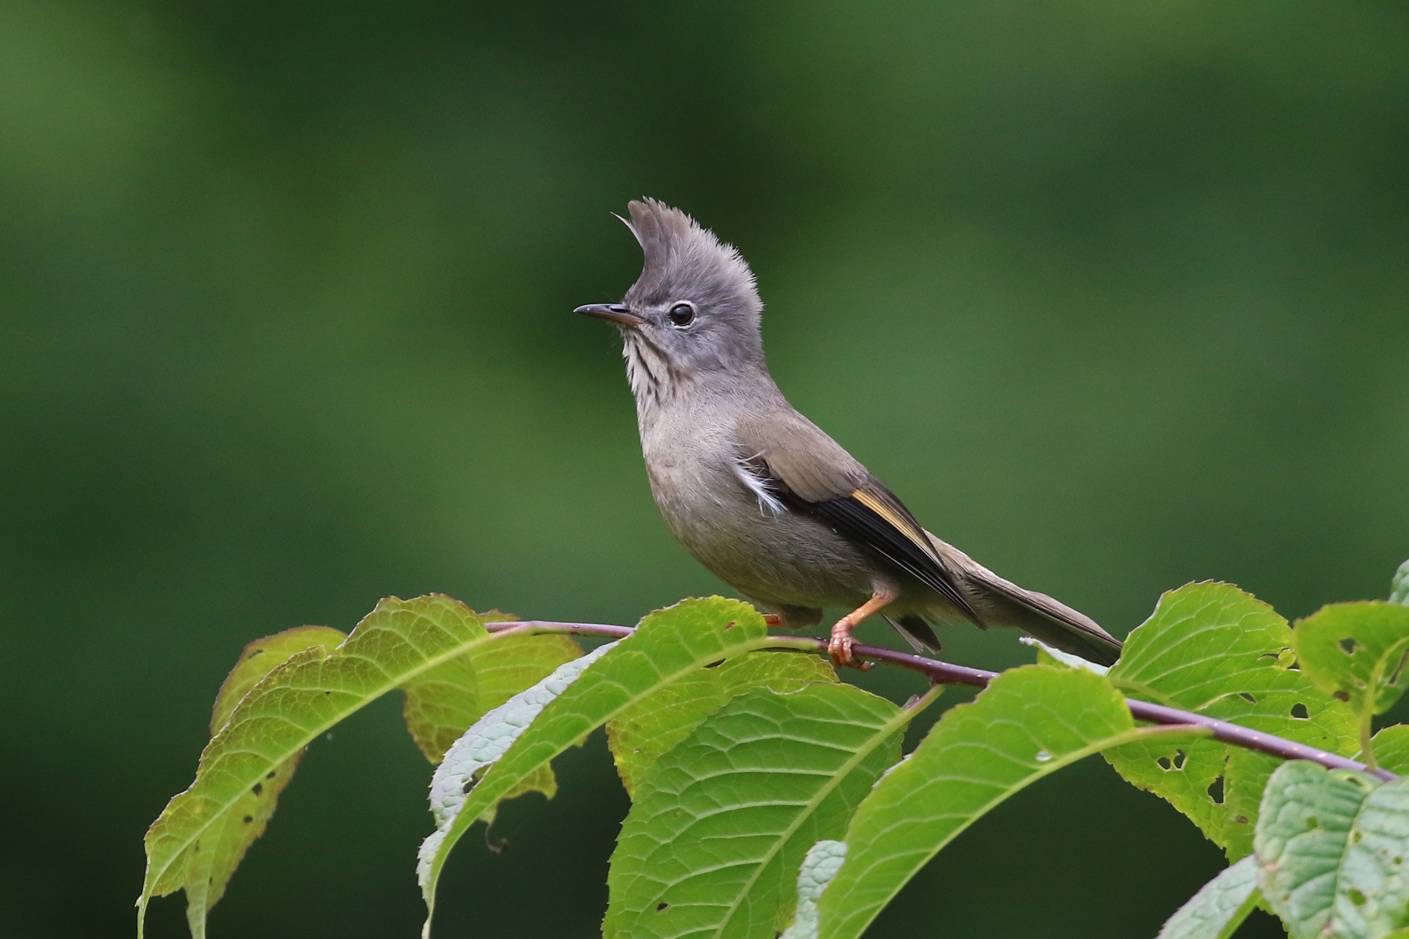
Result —
M747 468L788 508L824 522L983 625L910 510L816 424L789 415L741 422L737 433Z

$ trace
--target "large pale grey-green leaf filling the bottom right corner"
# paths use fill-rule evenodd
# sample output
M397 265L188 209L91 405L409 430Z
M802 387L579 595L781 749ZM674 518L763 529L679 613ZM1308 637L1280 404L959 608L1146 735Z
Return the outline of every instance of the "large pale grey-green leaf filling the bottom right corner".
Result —
M1293 939L1381 939L1409 926L1409 780L1292 761L1257 825L1258 883Z

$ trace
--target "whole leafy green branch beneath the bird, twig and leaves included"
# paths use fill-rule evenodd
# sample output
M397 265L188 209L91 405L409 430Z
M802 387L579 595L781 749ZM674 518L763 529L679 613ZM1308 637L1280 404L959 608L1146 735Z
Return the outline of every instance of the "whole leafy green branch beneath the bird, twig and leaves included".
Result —
M1395 599L1406 594L1409 564ZM583 654L572 634L610 642ZM1337 603L1292 629L1234 587L1191 584L1160 599L1109 671L1040 650L993 675L857 647L933 682L903 706L840 682L824 649L723 598L635 629L386 599L347 636L251 643L196 781L147 835L138 932L148 901L180 888L204 935L304 749L392 691L435 764L416 861L427 933L464 833L507 798L551 795L554 757L599 726L631 797L607 936L858 936L975 819L1093 754L1229 857L1162 936L1229 936L1260 901L1298 938L1409 928L1409 782L1396 775L1409 728L1374 723L1409 682L1409 606ZM952 682L985 688L902 761L906 726ZM472 885L447 891L480 902Z

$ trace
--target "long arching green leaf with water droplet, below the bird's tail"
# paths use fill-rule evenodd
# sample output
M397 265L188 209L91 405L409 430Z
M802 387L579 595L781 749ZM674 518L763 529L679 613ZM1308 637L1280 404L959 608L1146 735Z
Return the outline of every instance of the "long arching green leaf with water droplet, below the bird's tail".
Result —
M847 829L847 859L821 895L821 936L859 936L941 847L1026 785L1076 760L1143 736L1103 677L1026 665L1000 674L972 704L944 713L876 784Z

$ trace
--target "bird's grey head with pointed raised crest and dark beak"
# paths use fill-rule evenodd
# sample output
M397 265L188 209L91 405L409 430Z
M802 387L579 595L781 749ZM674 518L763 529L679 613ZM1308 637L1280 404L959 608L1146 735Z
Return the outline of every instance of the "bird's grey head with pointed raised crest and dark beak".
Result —
M693 381L766 375L754 274L733 245L679 209L633 202L626 221L645 266L621 303L579 306L616 323L637 403L672 398Z

